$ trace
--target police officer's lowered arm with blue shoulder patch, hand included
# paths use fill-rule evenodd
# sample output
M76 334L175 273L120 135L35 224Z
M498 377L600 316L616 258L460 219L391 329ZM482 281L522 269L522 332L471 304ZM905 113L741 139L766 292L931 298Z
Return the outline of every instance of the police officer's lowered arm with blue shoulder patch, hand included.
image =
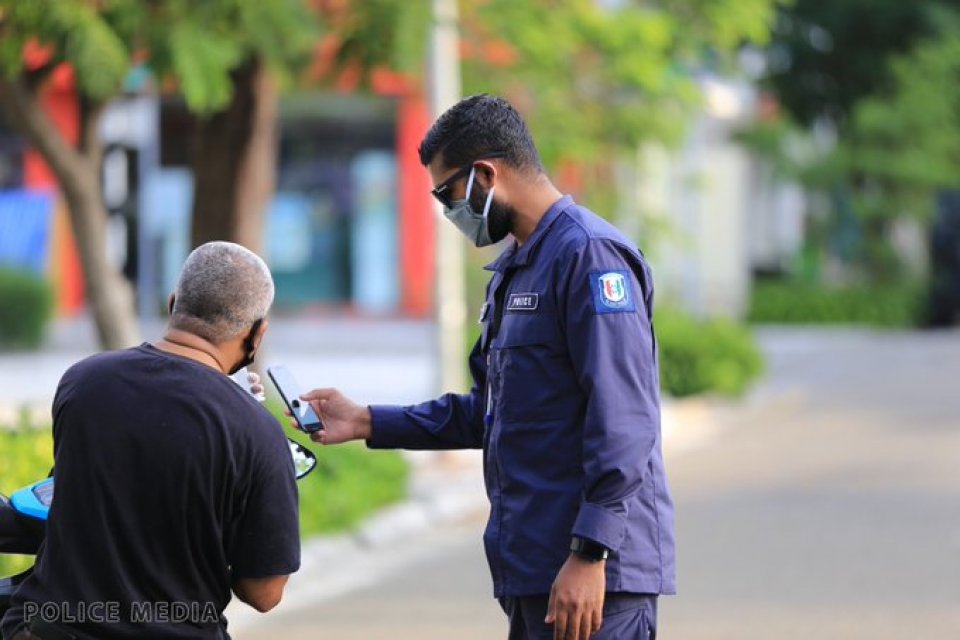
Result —
M626 502L644 480L660 424L648 283L624 251L592 241L569 262L558 291L571 362L587 396L584 493L571 537L610 551L625 536ZM600 628L605 565L602 555L570 554L548 604L555 638L587 638Z

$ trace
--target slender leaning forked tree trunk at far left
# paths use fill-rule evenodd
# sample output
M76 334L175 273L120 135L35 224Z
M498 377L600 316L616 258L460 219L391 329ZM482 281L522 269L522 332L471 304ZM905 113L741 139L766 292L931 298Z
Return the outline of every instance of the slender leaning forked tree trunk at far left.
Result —
M102 105L84 105L80 148L75 149L41 107L37 84L19 77L0 79L0 87L14 123L50 166L69 206L100 347L120 349L136 344L139 329L133 294L106 253L107 210L100 194L101 145L96 134Z

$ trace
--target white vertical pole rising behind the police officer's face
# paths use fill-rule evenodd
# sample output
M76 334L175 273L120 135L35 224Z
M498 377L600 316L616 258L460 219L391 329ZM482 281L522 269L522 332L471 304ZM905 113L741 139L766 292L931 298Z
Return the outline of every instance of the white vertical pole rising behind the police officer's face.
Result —
M433 0L428 83L430 110L436 119L460 100L460 43L456 0ZM464 282L465 239L434 206L436 233L436 321L439 393L466 391L465 371L467 319Z

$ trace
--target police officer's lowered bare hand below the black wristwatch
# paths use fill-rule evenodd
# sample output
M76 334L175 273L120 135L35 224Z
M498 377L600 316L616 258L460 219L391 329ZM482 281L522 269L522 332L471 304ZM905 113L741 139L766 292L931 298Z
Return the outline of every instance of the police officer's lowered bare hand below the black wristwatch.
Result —
M587 640L603 624L606 562L590 562L576 554L563 564L550 590L547 624L554 640Z

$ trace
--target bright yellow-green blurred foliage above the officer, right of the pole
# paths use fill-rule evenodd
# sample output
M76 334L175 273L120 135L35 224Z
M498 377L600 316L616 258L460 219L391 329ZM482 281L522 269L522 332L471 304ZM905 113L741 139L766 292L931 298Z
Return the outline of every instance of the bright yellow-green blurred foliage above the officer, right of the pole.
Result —
M466 4L466 3L461 3ZM774 0L488 0L463 6L466 93L507 95L548 166L676 142L695 72L764 42Z

